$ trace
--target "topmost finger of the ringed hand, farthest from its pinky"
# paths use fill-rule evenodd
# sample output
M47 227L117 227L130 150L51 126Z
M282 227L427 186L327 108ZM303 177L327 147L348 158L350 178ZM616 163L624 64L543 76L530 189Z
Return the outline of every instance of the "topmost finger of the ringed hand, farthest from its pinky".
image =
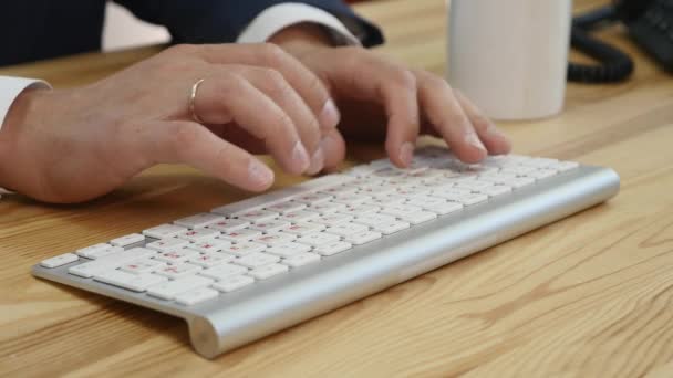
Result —
M322 128L334 128L341 115L324 83L276 44L199 45L198 54L214 64L246 64L280 72L308 104Z

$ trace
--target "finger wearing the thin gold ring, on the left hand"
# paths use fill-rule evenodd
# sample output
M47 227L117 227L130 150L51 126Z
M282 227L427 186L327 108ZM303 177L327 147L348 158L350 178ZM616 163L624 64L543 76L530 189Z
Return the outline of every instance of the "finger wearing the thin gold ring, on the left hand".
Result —
M236 122L263 140L288 172L300 175L309 168L309 155L292 118L240 75L220 73L206 78L197 93L194 111L206 124Z

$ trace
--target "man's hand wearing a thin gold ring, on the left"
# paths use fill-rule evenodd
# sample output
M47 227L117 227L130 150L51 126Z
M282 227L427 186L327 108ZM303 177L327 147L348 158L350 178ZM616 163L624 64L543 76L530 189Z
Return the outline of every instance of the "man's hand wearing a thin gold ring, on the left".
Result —
M193 119L188 97L204 78ZM273 44L180 45L86 87L28 91L0 132L0 187L85 201L159 162L185 162L247 190L273 172L323 168L340 115L322 82Z

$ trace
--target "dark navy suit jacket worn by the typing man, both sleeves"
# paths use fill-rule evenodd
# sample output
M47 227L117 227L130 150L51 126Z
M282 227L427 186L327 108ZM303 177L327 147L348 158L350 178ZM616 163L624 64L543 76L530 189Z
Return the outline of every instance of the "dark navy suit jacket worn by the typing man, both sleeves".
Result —
M281 0L115 0L147 22L165 25L174 43L234 42L262 10ZM360 23L367 46L380 31L341 0L293 0ZM4 0L0 3L0 65L101 49L105 0Z

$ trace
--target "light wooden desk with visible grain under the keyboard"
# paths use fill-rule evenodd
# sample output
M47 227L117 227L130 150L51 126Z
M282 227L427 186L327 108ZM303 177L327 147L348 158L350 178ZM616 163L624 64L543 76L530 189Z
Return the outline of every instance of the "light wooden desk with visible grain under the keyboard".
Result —
M578 9L598 0L578 1ZM444 69L444 1L360 6L381 52ZM559 117L504 125L516 150L614 167L608 204L531 232L258 343L205 360L179 319L35 280L60 252L242 198L157 167L76 207L0 201L0 376L673 376L673 81L638 55L633 81L571 85ZM1 70L86 83L156 49ZM358 146L352 157L382 156ZM296 182L281 176L280 186Z

